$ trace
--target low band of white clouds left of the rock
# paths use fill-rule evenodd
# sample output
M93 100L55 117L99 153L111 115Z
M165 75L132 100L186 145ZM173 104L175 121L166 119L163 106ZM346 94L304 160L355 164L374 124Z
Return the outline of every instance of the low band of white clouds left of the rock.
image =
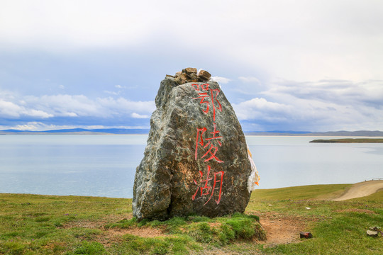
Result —
M130 101L111 97L90 99L84 95L23 96L21 100L13 98L13 101L0 99L0 117L111 118L131 115L133 118L149 118L148 114L155 110L154 101Z

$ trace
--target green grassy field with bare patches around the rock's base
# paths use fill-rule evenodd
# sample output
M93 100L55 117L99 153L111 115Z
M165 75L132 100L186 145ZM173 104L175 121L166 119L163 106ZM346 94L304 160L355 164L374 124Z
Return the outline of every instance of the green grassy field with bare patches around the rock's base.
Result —
M383 254L383 237L366 235L383 227L383 191L328 200L347 188L257 190L243 215L166 222L136 222L131 199L0 194L0 254ZM297 230L288 243L260 241L258 216L313 238L299 240Z

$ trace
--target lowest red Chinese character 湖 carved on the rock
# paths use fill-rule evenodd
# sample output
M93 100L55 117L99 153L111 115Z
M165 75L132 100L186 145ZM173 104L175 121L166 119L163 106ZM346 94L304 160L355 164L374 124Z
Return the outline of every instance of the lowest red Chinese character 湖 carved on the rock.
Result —
M193 180L196 185L199 186L197 188L196 193L191 197L192 200L196 199L196 195L198 191L200 191L200 196L209 196L209 200L206 201L208 203L211 198L213 197L214 193L216 192L218 199L214 199L216 201L216 204L218 205L221 201L221 193L222 193L222 181L223 181L223 174L225 174L223 171L218 171L214 173L214 177L210 177L210 166L207 167L207 176L206 179L204 179L204 173L199 171L199 182L197 183L196 180ZM213 180L213 186L211 186L211 180ZM204 205L206 205L204 203Z

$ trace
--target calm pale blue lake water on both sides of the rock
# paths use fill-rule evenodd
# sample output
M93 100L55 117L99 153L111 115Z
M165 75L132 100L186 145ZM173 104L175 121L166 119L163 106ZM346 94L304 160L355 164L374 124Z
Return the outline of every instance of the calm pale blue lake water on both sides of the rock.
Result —
M383 144L248 136L260 188L383 178ZM338 138L338 137L331 137ZM132 198L148 135L0 135L0 193Z

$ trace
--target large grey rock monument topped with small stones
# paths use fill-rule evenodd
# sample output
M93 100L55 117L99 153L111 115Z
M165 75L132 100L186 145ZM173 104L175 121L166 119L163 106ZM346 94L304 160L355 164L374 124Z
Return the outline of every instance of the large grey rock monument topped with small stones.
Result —
M187 68L161 81L135 173L138 220L216 217L248 205L257 179L245 136L220 86L209 78L209 72Z

